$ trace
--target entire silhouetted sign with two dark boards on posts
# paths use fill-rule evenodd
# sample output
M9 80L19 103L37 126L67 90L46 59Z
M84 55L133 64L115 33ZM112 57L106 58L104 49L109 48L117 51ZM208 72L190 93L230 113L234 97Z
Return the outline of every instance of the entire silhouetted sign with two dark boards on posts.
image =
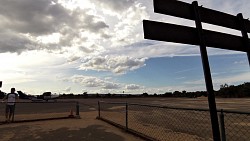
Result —
M180 26L156 21L143 21L144 38L182 44L199 45L208 93L208 103L214 141L220 141L220 130L216 112L215 95L206 47L246 52L250 65L250 21L239 13L233 16L227 13L177 0L154 0L154 12L194 20L196 27ZM202 29L202 22L240 30L242 37Z

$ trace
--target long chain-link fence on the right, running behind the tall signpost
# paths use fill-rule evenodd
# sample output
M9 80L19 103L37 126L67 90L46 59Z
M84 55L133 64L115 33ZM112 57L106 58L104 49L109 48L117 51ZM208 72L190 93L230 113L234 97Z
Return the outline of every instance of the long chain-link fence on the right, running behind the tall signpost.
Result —
M208 109L99 102L98 118L149 140L212 141ZM222 141L249 141L250 113L219 111Z

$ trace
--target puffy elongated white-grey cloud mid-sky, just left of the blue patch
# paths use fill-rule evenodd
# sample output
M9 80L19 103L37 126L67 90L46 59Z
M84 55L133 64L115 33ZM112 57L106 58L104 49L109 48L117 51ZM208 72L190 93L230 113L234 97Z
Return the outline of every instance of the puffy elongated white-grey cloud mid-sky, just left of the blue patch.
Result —
M145 66L146 58L131 58L128 56L105 56L83 60L80 70L111 71L116 74L124 74Z

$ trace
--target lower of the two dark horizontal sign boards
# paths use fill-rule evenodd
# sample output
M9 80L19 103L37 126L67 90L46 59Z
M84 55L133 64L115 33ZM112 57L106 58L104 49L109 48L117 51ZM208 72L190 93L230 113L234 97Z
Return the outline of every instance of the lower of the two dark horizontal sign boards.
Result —
M144 20L143 30L145 39L199 45L197 29L193 27ZM208 47L242 52L250 51L244 46L242 37L209 30L203 30L203 34ZM250 43L250 40L248 41Z

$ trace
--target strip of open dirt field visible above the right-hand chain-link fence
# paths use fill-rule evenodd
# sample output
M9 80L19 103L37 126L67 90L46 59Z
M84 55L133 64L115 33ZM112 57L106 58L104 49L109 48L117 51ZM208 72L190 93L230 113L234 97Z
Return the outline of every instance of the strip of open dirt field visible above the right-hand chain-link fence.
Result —
M99 98L99 99L76 99L85 106L97 107L98 101L107 102L128 102L140 104L162 105L181 108L202 108L209 109L208 98L164 98L164 97L144 97L144 98ZM216 98L217 109L250 112L250 98Z

